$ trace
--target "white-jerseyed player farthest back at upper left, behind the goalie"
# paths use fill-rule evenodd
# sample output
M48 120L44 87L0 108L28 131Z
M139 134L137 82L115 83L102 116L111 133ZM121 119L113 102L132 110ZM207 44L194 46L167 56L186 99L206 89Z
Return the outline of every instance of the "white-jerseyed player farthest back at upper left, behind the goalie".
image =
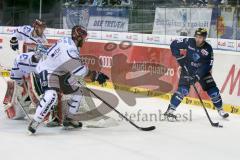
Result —
M47 39L44 35L46 23L43 20L36 19L32 26L24 25L19 26L14 30L12 38L10 40L11 48L16 51L19 49L18 41L24 41L25 43L34 44L46 44Z

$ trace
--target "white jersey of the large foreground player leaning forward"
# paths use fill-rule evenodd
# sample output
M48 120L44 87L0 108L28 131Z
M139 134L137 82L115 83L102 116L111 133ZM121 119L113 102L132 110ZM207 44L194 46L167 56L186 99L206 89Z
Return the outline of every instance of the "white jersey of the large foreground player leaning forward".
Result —
M38 73L47 71L55 75L64 75L68 72L77 76L87 74L87 67L80 62L80 50L70 37L58 40L47 51L47 56L42 59L36 68Z

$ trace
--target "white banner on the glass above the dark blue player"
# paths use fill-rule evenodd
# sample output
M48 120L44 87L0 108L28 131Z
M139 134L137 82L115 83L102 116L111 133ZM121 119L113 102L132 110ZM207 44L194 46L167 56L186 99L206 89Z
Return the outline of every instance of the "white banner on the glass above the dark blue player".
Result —
M193 36L197 28L209 30L211 8L156 8L153 34Z

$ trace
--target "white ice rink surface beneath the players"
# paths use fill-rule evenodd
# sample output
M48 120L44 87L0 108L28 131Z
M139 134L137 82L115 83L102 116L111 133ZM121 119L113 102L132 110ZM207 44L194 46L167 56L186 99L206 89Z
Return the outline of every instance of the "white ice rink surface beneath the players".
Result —
M0 100L5 94L5 82L0 77ZM112 90L107 90L111 91ZM121 112L145 113L165 111L168 102L157 98L141 98L136 107L120 101ZM6 119L0 110L0 159L2 160L239 160L240 116L222 120L209 110L214 121L224 128L209 125L201 107L181 105L177 112L192 110L188 122L136 122L141 126L156 125L152 132L136 130L126 122L105 129L66 131L40 127L36 136L28 136L27 121ZM117 118L115 113L110 115Z

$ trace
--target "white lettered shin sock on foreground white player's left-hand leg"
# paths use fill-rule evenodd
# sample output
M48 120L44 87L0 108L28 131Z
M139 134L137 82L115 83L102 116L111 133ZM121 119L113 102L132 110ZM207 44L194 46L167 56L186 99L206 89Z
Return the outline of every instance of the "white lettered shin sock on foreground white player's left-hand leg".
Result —
M55 90L47 90L43 98L40 100L36 113L34 115L34 120L37 122L42 122L51 109L56 105L58 99L57 92Z

